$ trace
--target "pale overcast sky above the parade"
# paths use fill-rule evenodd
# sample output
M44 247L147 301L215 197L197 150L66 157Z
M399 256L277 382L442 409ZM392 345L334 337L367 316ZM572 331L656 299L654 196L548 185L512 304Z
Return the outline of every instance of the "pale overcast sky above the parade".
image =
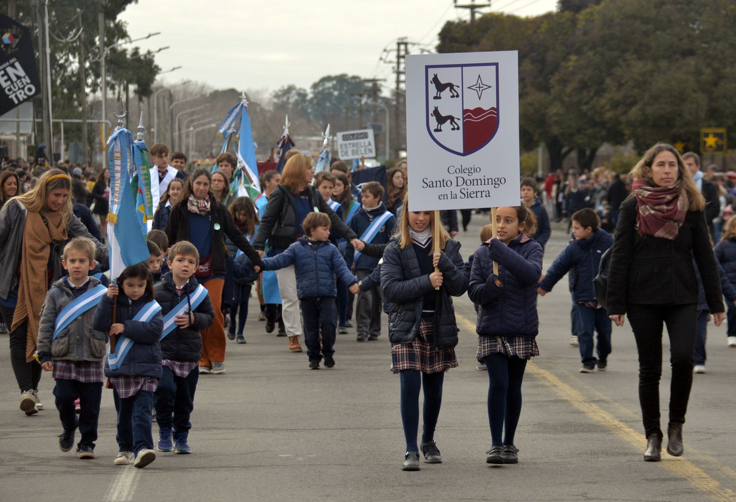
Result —
M491 10L538 15L556 3L498 0ZM167 82L268 91L290 83L308 88L342 73L386 78L391 88L392 66L378 61L384 48L406 36L434 49L445 21L468 17L452 0L139 0L121 15L132 38L161 32L136 44L144 51L170 47L156 54L158 65L183 68L162 75Z

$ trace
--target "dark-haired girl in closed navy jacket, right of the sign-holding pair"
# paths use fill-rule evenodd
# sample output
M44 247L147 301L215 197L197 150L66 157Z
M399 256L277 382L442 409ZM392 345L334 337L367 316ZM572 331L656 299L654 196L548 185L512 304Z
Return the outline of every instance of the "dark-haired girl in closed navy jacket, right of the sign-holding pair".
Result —
M535 338L537 281L542 275L542 247L534 233L534 214L520 205L498 208L498 238L481 244L473 255L468 296L478 305L478 360L488 369L489 464L516 464L514 433L521 414L521 383L526 362L539 356ZM498 275L493 262L498 262ZM503 425L506 436L501 440Z

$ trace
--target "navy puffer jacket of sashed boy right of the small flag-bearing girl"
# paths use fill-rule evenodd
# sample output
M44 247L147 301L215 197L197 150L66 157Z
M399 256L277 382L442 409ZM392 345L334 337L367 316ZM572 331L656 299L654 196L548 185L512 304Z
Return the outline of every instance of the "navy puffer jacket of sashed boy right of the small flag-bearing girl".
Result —
M186 300L185 295L194 294L195 289L197 289L197 279L194 276L189 277L189 282L184 285L180 297L177 294L177 286L174 285L171 272L163 275L161 282L154 289L156 301L161 305L161 314L164 316L169 314L182 300ZM199 358L202 358L202 336L199 331L209 328L215 319L210 296L207 295L192 312L194 312L194 322L188 328L174 328L165 339L161 340L161 355L164 359L199 361Z

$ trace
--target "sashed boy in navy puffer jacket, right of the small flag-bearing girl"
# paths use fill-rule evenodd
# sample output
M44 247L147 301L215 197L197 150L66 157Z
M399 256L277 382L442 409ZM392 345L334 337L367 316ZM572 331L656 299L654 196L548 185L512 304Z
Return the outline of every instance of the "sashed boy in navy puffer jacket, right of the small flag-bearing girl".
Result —
M188 241L177 242L169 250L169 261L171 272L154 289L163 314L160 340L163 375L155 392L156 450L191 453L189 418L194 410L202 357L199 331L212 325L215 314L205 286L194 278L199 264L197 247Z

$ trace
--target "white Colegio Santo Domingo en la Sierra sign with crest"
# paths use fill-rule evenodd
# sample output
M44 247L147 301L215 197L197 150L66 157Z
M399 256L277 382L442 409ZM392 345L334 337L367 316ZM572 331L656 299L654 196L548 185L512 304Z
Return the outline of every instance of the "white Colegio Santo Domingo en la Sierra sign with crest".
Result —
M411 211L520 204L518 67L516 51L406 57Z

